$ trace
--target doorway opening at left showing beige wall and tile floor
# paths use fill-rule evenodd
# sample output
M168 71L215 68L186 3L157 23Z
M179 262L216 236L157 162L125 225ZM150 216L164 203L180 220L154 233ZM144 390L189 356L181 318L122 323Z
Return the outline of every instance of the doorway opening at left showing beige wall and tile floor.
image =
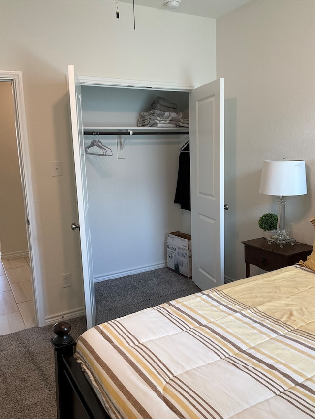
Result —
M0 82L0 334L36 326L11 81Z

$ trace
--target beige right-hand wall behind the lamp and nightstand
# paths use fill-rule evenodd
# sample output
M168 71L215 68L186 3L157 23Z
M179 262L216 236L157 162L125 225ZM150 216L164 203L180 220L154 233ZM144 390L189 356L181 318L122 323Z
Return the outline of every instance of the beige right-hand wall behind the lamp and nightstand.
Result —
M314 1L252 1L217 21L217 77L225 78L225 273L245 277L242 240L261 237L257 220L278 213L259 194L263 160L306 161L308 194L287 198L289 233L313 244ZM251 267L251 275L258 273Z

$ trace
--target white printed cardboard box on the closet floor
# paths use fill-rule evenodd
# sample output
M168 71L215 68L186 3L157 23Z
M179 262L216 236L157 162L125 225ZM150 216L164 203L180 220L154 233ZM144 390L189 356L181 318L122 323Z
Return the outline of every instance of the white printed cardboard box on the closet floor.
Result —
M167 234L167 267L187 278L192 278L191 235L174 231Z

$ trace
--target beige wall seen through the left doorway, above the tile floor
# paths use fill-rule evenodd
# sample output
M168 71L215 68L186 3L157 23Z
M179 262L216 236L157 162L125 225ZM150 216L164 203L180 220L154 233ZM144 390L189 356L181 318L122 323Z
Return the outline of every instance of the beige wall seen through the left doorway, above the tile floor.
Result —
M28 254L11 82L0 82L0 253Z

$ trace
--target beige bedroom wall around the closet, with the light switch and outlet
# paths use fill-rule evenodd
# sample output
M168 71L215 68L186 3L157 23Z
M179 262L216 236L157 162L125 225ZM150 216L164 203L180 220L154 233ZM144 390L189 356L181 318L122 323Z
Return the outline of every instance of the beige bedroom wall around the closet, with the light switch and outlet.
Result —
M106 1L0 1L1 69L22 71L46 319L83 307L65 74L203 84L216 78L212 19ZM61 177L51 162L61 161ZM72 286L62 288L61 274Z

